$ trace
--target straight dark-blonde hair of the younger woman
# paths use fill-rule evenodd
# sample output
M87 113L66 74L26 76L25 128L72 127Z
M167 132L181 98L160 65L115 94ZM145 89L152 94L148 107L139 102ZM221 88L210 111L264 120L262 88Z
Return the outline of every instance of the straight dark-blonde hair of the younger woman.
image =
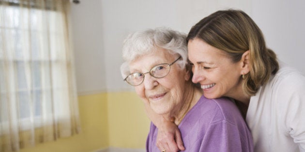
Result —
M275 53L266 47L263 34L243 11L217 11L193 26L186 41L194 38L225 51L232 62L241 60L250 50L250 72L244 76L243 90L253 96L279 68Z

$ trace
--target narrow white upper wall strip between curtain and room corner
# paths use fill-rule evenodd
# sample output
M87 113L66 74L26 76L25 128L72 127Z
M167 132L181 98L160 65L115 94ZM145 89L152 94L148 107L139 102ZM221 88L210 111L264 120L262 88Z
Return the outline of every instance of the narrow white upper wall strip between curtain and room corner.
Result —
M76 85L79 95L107 91L100 0L71 5Z

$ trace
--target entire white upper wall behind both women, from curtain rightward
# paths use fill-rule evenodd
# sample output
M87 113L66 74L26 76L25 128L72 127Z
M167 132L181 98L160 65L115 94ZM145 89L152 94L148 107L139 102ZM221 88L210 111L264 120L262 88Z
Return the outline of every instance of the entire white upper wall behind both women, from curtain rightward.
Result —
M305 0L81 0L72 4L78 92L132 90L120 74L129 33L160 26L187 33L227 8L249 14L278 57L305 73Z

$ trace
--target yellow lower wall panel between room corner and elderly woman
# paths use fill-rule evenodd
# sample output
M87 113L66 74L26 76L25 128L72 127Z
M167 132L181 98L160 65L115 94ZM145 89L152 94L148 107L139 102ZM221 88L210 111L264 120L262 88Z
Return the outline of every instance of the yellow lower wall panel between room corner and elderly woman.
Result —
M145 148L150 121L136 93L108 93L111 147Z

